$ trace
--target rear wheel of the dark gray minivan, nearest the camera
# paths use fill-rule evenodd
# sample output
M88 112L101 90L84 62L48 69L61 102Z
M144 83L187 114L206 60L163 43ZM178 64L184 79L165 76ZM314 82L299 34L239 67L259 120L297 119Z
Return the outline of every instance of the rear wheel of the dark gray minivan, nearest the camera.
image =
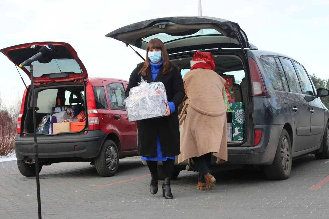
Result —
M268 179L285 180L291 172L291 142L286 129L283 129L278 143L274 161L269 166L264 166L264 172Z

